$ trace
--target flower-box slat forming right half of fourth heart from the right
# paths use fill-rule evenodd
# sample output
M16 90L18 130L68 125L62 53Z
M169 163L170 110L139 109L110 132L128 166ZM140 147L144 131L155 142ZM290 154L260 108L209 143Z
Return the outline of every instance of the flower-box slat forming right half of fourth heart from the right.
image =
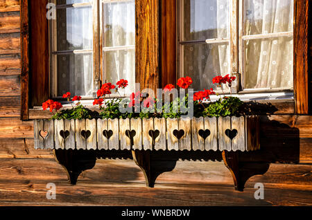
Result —
M155 138L155 149L167 149L167 132L166 132L166 119L154 118L154 129L159 131L159 136Z

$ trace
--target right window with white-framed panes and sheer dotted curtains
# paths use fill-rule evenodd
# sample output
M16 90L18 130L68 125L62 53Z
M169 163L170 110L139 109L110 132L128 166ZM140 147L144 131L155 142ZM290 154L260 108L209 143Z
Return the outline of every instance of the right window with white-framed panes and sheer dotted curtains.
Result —
M220 74L238 76L243 92L293 89L293 0L177 3L178 75L195 91L216 89Z

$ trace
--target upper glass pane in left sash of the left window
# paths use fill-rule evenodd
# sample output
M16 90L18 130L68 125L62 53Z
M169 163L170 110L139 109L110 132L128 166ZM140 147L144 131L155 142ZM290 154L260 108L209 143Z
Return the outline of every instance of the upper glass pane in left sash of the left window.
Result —
M58 9L56 25L58 51L93 48L91 7Z

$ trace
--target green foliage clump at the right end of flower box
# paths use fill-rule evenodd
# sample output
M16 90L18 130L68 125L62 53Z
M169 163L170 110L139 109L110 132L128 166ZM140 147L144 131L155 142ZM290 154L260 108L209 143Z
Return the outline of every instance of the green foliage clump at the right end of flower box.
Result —
M237 97L224 97L220 98L216 102L211 102L207 108L203 111L203 116L209 117L226 117L226 116L238 116L239 109L243 102Z

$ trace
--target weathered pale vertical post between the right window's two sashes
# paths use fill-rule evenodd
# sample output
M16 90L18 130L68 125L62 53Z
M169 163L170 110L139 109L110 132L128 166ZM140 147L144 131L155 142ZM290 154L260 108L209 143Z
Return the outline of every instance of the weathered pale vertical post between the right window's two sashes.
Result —
M236 76L236 84L232 86L232 93L238 93L241 89L241 72L239 71L239 2L232 0L229 21L229 45L231 75Z

